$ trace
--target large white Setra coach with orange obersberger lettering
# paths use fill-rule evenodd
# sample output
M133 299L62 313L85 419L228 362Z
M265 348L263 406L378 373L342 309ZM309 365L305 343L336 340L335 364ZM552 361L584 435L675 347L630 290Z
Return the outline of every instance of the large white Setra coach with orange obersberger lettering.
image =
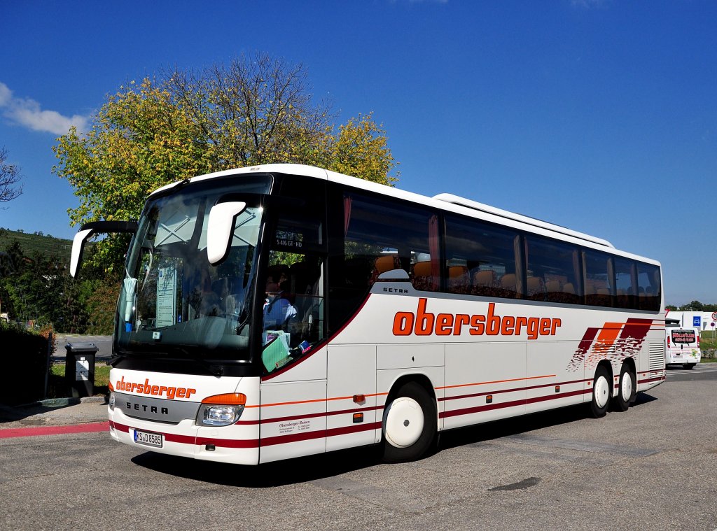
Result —
M585 403L665 380L660 264L464 198L319 168L212 173L149 196L110 372L110 433L259 464Z

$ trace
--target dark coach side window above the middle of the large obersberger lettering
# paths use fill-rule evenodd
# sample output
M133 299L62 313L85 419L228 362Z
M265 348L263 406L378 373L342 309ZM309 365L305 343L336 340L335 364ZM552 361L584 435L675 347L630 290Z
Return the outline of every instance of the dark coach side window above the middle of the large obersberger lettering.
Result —
M446 216L447 291L516 298L518 234L475 219Z

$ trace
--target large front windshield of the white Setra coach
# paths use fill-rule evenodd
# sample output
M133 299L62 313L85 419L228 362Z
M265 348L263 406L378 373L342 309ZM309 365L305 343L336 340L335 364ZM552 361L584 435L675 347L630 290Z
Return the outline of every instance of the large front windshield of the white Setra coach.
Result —
M270 191L271 177L217 184L190 183L148 201L120 290L118 354L249 360L260 194ZM246 206L227 258L212 266L209 211L229 194Z

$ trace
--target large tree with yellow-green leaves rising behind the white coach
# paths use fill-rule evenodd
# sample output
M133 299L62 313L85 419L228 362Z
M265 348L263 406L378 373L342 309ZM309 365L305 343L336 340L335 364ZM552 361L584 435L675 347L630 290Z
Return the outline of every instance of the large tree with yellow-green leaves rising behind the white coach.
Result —
M335 125L331 105L313 101L307 77L301 64L257 54L227 67L175 69L120 87L89 132L72 129L54 147L54 173L80 198L69 211L72 224L136 219L148 193L160 186L264 163L396 181L397 163L382 125L371 113ZM125 244L102 242L100 263L112 269L109 257L121 256Z

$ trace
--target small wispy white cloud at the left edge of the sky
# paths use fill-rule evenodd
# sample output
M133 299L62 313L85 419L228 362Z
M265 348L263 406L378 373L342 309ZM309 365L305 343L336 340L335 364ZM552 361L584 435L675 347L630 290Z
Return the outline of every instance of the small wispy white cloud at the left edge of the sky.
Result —
M26 128L54 135L65 135L71 125L82 133L87 130L89 118L82 115L63 116L54 110L42 110L40 104L28 97L14 97L12 91L0 82L0 108L6 118Z

